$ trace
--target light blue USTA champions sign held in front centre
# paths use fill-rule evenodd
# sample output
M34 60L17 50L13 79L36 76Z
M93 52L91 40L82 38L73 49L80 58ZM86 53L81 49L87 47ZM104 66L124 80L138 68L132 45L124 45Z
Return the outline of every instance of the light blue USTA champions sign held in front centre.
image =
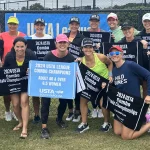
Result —
M74 99L77 63L30 61L28 95Z

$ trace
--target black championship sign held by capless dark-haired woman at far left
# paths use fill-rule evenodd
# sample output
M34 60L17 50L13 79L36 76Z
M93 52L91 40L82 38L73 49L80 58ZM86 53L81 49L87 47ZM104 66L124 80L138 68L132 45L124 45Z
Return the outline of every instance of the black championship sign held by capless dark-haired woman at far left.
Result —
M0 68L0 96L27 92L26 67Z

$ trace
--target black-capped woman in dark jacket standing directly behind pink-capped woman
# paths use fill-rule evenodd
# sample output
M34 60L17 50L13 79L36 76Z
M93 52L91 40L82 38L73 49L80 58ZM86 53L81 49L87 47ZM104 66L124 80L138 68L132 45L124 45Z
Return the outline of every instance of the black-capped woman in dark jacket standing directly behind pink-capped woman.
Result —
M72 17L70 19L69 22L69 28L70 28L70 32L69 33L65 33L69 39L70 45L74 44L76 46L79 47L78 49L78 55L76 55L76 53L73 53L72 51L70 51L70 53L75 57L81 57L83 56L82 51L80 49L81 47L81 42L84 38L84 36L82 34L79 33L79 27L80 27L80 21L78 17ZM69 48L70 50L70 48ZM66 118L67 121L73 121L73 122L79 122L80 121L80 96L79 94L76 94L75 97L75 113L73 113L73 101L68 101L68 108L69 108L69 114Z

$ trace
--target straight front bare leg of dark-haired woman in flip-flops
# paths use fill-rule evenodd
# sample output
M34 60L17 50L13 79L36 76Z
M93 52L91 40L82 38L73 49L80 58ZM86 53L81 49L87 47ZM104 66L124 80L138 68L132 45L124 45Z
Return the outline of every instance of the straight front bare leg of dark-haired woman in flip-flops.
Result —
M22 122L23 122L23 128L22 133L27 134L27 128L28 128L28 121L29 121L29 97L27 93L21 93L20 95L20 101L21 101L21 116L22 116Z

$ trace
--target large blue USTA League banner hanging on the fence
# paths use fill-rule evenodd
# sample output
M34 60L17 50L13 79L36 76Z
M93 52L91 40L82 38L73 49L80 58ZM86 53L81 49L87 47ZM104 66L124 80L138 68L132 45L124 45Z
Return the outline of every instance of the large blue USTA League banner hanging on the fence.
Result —
M30 36L34 34L34 21L37 18L45 20L45 33L52 35L54 38L60 33L69 31L69 20L73 16L80 19L80 30L86 31L89 27L89 18L91 14L48 14L48 13L6 13L5 30L8 31L7 20L10 16L16 16L19 20L19 31ZM100 15L100 28L109 31L107 24L107 14Z

